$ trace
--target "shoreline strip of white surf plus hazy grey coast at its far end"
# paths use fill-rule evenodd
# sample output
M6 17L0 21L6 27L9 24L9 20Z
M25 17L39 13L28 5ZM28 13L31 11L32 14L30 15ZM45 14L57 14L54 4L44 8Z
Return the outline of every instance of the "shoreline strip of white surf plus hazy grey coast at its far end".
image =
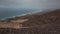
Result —
M25 16L25 15L31 15L31 14L38 14L38 13L44 14L44 13L48 13L48 12L52 12L52 11L54 11L54 10L36 10L36 11L29 12L29 13L21 14L21 15L16 15L16 16L12 16L12 17L2 18L0 20L6 20L6 19L21 17L21 16Z

